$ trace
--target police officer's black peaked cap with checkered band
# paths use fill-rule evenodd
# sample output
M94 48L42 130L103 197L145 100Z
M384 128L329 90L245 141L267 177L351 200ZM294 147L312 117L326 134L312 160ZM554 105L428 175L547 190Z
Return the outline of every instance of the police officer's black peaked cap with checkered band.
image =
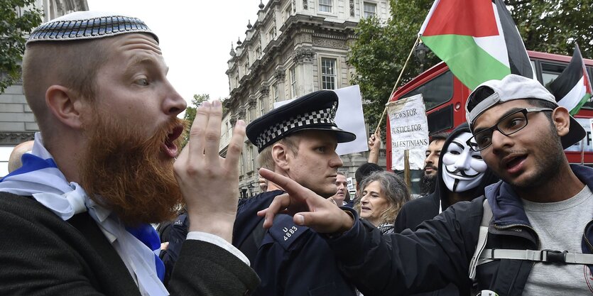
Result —
M338 143L354 141L356 135L338 128L335 123L338 98L335 92L312 92L280 106L247 126L247 138L261 152L263 148L296 131L333 131Z

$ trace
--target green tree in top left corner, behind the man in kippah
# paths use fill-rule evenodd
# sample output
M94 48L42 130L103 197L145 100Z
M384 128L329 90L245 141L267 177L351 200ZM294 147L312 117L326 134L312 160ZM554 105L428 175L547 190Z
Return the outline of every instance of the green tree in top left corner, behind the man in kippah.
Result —
M35 0L0 1L0 94L21 76L25 53L24 35L41 23L43 13L33 7Z

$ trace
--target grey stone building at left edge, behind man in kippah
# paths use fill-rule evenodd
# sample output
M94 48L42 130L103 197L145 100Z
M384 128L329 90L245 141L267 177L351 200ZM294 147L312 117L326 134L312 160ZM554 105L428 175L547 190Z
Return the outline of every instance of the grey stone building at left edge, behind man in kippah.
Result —
M43 11L43 23L73 11L89 10L86 0L37 0L36 6ZM12 148L33 140L36 131L39 128L27 105L23 85L17 82L0 94L0 177L8 172Z

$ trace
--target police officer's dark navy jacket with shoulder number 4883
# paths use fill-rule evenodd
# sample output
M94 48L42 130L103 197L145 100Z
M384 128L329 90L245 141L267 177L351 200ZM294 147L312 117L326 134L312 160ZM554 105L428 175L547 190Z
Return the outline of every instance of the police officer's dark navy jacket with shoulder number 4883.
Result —
M233 244L246 250L244 253L261 278L254 295L356 295L325 239L294 224L292 216L277 215L272 228L259 234L263 218L256 212L266 209L282 193L264 192L239 204ZM252 248L256 249L253 253L249 251Z

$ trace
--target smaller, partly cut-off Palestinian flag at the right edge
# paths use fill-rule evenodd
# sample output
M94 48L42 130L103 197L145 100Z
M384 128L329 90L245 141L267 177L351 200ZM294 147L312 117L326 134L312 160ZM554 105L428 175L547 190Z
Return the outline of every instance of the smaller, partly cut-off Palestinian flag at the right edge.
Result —
M579 45L575 44L575 53L568 67L550 83L550 92L560 106L570 111L570 115L577 114L582 105L591 99L591 80L584 67Z

